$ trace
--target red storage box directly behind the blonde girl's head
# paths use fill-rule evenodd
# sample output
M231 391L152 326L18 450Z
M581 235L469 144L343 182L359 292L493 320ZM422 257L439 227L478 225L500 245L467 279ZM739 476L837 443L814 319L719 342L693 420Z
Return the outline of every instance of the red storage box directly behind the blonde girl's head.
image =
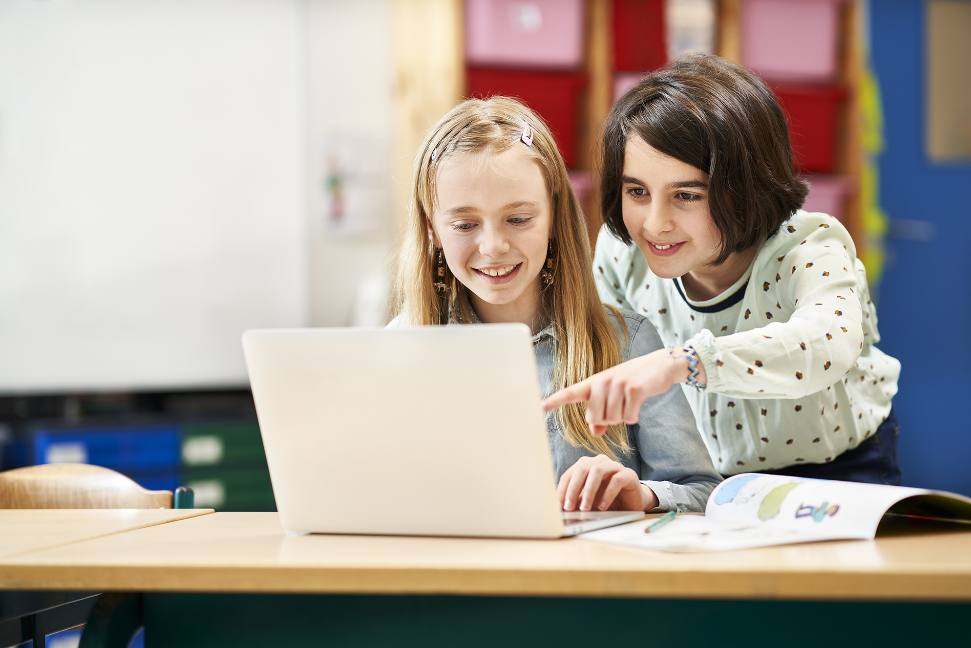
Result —
M577 126L581 91L586 74L577 72L526 72L468 68L470 96L488 98L505 94L522 101L550 125L567 166L576 161Z

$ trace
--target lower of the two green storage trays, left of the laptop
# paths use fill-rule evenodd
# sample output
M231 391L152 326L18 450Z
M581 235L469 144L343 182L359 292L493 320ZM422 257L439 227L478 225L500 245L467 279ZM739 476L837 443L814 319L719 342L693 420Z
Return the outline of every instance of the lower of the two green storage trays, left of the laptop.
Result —
M217 511L276 511L270 472L265 468L236 470L183 468L183 484L195 492L197 508Z

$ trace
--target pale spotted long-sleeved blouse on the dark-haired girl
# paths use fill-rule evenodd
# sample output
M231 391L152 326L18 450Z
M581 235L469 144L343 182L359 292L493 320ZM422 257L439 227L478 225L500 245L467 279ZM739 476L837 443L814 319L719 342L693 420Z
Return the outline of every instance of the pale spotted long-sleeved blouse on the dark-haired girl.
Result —
M796 212L734 286L706 301L654 276L606 226L593 273L602 299L647 317L664 344L698 352L708 386L685 392L724 475L831 461L889 414L900 362L873 346L866 270L830 216Z

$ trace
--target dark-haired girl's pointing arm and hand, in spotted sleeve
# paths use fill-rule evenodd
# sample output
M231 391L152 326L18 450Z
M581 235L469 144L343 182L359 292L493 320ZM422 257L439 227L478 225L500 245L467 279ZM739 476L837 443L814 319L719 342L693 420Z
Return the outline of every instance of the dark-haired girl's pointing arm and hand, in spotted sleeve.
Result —
M798 398L819 392L854 367L868 330L869 342L877 341L876 314L865 291L864 270L853 260L849 234L830 217L807 215L803 221L810 225L808 233L789 227L773 239L778 253L772 248L760 253L771 253L775 261L768 270L756 257L761 269L753 271L755 288L750 291L759 299L771 296L775 303L763 304L764 313L754 312L762 302L753 301L750 310L747 295L742 330L716 337L703 329L686 340L699 359L697 382L708 391L739 398ZM605 270L610 272L609 264ZM753 327L744 329L746 322ZM684 354L679 347L672 351L673 357L655 352L628 360L552 394L544 405L553 409L587 401L587 423L596 435L620 421L630 423L641 400L686 382ZM894 369L880 368L888 374Z

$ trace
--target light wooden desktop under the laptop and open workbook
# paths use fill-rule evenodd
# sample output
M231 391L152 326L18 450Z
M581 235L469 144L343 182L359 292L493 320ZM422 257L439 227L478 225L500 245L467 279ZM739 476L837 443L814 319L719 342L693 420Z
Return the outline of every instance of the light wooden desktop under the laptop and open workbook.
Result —
M0 560L0 587L971 601L971 533L668 554L577 538L287 536L216 513Z

